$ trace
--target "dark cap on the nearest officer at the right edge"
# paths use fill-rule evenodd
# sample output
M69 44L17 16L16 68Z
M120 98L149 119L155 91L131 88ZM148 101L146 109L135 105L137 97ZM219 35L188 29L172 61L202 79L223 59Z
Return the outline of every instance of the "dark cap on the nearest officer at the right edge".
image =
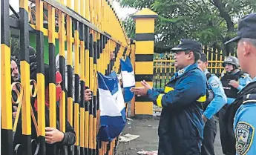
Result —
M256 39L256 13L243 16L238 22L237 36L225 44L237 42L242 38Z

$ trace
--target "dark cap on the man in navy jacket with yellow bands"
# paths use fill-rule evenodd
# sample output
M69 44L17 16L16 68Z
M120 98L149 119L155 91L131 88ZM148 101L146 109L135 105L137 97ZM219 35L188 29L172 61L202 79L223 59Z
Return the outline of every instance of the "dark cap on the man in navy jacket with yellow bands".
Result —
M192 50L193 52L202 53L202 44L191 39L181 39L180 44L171 49L172 52L179 52L182 50Z

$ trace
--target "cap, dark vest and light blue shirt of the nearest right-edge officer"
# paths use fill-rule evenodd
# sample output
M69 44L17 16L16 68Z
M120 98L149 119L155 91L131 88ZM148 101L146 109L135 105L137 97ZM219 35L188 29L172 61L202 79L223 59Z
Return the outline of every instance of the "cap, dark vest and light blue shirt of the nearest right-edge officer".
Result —
M256 13L243 16L238 22L237 36L229 42L237 42L242 38L256 39ZM229 44L226 42L225 44ZM228 127L232 120L235 150L237 155L256 154L256 77L249 85L240 90L237 99L229 106ZM234 114L235 113L235 114ZM229 133L232 138L232 133Z

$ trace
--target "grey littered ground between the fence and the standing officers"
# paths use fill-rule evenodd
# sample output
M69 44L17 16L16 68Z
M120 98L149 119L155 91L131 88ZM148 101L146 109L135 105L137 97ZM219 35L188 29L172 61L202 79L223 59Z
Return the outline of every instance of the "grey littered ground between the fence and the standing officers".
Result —
M135 155L137 151L156 151L158 145L158 128L159 117L151 116L144 118L133 118L133 121L128 122L125 127L126 133L140 135L139 138L134 139L131 142L119 142L119 146L116 151L116 155ZM223 155L220 145L219 128L217 128L217 136L215 139L215 154Z

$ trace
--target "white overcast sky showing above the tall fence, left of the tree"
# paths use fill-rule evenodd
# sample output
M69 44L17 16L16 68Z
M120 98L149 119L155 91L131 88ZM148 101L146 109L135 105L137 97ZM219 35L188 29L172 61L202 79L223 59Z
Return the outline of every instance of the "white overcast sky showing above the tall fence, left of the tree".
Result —
M13 7L14 10L19 12L19 1L18 0L9 0L10 5ZM66 0L65 0L66 1ZM72 1L73 2L73 1ZM73 3L72 3L73 5ZM114 10L116 10L117 16L119 16L119 19L125 19L127 16L136 13L137 10L134 8L122 8L120 4L116 1L113 1L112 6L114 7ZM12 11L10 11L10 14L13 14Z

